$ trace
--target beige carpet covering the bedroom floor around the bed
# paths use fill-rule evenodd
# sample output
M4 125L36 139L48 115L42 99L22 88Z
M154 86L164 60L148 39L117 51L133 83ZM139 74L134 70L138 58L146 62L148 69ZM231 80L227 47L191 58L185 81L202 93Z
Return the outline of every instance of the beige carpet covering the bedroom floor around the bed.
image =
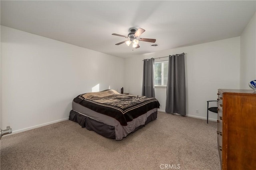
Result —
M1 139L1 170L220 170L217 123L158 113L123 140L63 121ZM166 169L167 169L166 168Z

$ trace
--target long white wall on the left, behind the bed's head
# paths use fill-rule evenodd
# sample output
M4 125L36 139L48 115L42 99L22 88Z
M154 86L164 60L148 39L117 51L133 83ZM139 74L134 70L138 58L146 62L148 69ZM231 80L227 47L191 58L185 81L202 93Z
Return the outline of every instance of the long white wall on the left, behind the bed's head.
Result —
M65 120L74 97L120 91L123 74L122 58L1 26L1 128Z

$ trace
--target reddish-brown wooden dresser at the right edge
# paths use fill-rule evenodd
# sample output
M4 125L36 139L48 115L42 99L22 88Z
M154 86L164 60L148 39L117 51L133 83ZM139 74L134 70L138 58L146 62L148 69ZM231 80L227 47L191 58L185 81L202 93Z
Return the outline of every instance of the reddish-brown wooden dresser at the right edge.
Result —
M218 89L217 134L222 170L256 170L256 92Z

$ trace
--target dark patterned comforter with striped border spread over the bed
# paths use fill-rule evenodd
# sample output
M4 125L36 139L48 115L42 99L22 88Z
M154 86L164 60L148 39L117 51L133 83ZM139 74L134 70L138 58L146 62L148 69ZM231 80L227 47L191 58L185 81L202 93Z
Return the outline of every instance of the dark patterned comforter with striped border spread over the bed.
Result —
M113 94L106 97L86 99L83 97L85 94L77 96L74 102L98 113L113 117L123 126L160 106L158 100L153 97Z

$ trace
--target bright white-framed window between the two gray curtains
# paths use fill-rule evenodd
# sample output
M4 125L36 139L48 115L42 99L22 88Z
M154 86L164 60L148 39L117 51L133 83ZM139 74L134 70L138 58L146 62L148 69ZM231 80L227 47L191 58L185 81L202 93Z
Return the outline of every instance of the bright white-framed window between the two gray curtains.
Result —
M166 86L168 79L168 60L156 61L154 63L155 86Z

